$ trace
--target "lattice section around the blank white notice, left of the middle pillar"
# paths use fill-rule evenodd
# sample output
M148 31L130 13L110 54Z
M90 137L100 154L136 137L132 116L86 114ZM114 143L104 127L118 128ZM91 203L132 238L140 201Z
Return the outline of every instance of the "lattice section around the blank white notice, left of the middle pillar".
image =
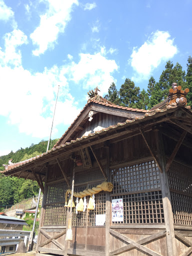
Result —
M88 222L89 225L95 225L95 215L105 213L105 193L103 191L95 194L95 208L94 210L89 210Z

